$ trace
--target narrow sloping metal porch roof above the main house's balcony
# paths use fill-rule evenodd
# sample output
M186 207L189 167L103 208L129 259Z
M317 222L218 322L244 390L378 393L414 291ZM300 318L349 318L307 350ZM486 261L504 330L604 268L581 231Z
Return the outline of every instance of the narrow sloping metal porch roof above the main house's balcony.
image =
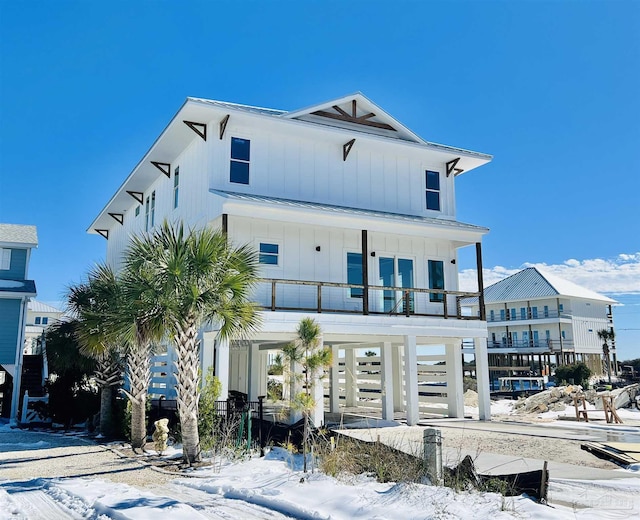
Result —
M420 224L429 224L433 226L445 226L445 227L451 227L455 229L464 229L464 230L472 230L472 231L481 231L481 232L489 231L487 228L484 228L481 226L475 226L473 224L465 224L463 222L458 222L455 220L445 220L445 219L438 219L438 218L432 218L432 217L420 217L417 215L403 215L400 213L391 213L387 211L378 211L378 210L362 209L362 208L350 208L346 206L336 206L333 204L322 204L319 202L283 199L279 197L268 197L265 195L253 195L253 194L238 193L233 191L223 191L223 190L209 190L209 191L211 193L214 193L215 195L219 195L221 197L225 197L228 199L243 200L243 201L249 201L249 202L261 202L261 203L282 206L282 207L311 209L311 210L317 210L317 211L329 211L332 213L340 213L340 214L352 215L352 216L379 217L379 218L386 218L386 219L401 220L404 222L416 222Z

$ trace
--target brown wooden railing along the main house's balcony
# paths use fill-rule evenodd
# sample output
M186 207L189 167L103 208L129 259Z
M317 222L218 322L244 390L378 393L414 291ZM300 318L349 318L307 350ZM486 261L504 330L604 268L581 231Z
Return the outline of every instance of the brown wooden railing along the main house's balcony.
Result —
M280 278L261 278L258 281L259 285L269 284L271 286L270 302L263 302L263 308L271 311L312 311L316 313L333 312L333 313L359 313L363 315L378 314L378 315L391 315L391 316L430 316L440 318L453 318L460 320L480 320L481 316L463 315L461 300L464 298L472 298L480 296L478 292L462 292L462 291L445 291L442 289L425 289L419 287L390 287L383 285L368 285L350 284L340 282L317 282L309 280L285 280ZM315 287L315 302L312 306L291 305L287 304L287 301L283 298L280 304L278 304L278 289L279 286L306 286ZM344 289L358 290L361 295L351 297L353 301L358 299L362 302L359 309L349 309L346 306L332 305L327 306L323 303L323 290L326 289ZM384 295L383 299L391 304L389 310L372 308L369 304L370 298L363 297L365 291L368 293L379 293L380 291L392 292L393 296ZM424 295L424 297L423 297ZM334 299L341 300L344 303L344 298ZM450 301L453 300L453 301ZM453 308L452 308L453 307Z

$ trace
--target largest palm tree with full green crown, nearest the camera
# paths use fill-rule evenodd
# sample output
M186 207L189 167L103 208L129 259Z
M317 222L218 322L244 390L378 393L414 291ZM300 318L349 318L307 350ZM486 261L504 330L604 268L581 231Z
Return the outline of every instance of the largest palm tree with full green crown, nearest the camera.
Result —
M164 222L134 237L125 254L125 285L137 292L139 311L164 320L176 344L178 413L186 463L201 457L198 435L200 344L198 329L219 326L219 338L236 338L258 324L249 298L258 274L257 255L234 248L210 228L185 232Z

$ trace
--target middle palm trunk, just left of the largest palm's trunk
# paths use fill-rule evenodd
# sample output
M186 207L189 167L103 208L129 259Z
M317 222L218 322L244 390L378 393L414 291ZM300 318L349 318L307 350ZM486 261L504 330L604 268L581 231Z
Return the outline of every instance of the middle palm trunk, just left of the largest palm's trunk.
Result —
M147 440L147 389L151 381L150 345L132 348L127 360L129 391L124 391L131 402L131 447L144 449Z

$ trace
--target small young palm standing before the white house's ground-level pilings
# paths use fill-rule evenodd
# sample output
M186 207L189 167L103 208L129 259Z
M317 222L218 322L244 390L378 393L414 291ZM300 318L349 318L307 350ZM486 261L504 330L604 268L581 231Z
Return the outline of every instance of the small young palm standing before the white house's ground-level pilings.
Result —
M333 362L329 347L322 344L320 325L312 318L303 318L298 324L297 338L282 349L283 356L289 362L289 380L292 388L303 383L301 392L291 391L291 409L302 413L304 431L302 449L304 471L307 471L307 453L309 451L309 430L311 415L316 408L315 386L320 384L324 370ZM298 372L296 367L301 367Z

